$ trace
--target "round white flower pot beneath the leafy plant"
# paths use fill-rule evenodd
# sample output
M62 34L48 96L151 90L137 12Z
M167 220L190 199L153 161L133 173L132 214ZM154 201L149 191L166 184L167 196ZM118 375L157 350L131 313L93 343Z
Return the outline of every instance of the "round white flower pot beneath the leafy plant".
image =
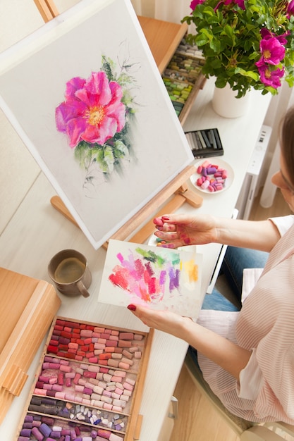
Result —
M223 89L214 87L212 97L212 108L223 118L239 118L245 115L250 104L250 93L246 93L242 98L235 98L238 92L226 85Z

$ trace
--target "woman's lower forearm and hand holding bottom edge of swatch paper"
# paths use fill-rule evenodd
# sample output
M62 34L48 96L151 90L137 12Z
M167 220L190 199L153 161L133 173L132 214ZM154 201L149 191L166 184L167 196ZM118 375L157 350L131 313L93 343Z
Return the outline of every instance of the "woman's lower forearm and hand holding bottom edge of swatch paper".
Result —
M250 359L250 351L193 322L188 317L181 317L169 311L153 311L138 305L129 305L128 309L149 328L185 340L236 379L239 379L240 371Z

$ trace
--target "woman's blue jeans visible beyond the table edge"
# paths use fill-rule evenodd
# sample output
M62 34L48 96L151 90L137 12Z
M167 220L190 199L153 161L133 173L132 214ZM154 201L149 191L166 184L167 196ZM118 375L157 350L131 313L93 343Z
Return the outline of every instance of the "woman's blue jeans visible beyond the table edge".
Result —
M206 294L204 297L202 309L240 311L244 268L264 268L268 256L269 253L264 251L228 247L221 266L221 273L226 276L228 285L231 287L240 307L233 305L214 287L212 294Z

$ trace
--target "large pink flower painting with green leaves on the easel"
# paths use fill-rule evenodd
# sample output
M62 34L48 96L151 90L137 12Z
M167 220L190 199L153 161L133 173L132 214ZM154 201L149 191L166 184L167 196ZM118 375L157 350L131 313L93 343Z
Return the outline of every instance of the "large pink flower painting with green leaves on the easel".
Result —
M96 249L193 160L130 0L0 54L0 106Z

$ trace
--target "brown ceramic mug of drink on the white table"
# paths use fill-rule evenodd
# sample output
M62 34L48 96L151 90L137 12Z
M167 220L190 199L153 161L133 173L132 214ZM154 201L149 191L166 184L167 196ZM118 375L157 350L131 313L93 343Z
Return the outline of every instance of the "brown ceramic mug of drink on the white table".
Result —
M75 249L63 249L52 257L48 265L50 278L61 294L74 297L82 294L89 297L87 288L92 282L87 259Z

